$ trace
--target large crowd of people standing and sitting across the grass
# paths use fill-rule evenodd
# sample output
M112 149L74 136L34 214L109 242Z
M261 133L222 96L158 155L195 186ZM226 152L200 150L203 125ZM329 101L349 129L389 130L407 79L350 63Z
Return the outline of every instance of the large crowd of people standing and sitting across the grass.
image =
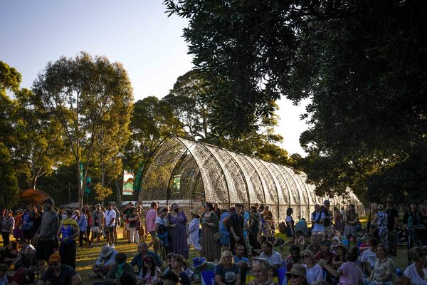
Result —
M107 202L79 210L58 209L47 199L44 207L15 212L4 209L1 217L0 285L31 284L36 276L39 285L81 284L75 269L77 249L83 246L100 247L89 276L95 285L185 285L201 281L204 271L211 272L215 284L226 285L276 284L280 272L292 285L393 284L391 256L401 228L392 199L387 207L371 205L364 242L358 241L363 229L354 205L331 209L328 200L315 205L310 221L298 217L297 222L292 208L280 222L268 206L220 209L209 202L200 212L156 202L147 211L132 202L122 209ZM426 217L426 207L418 211L411 204L403 222L423 224ZM125 252L115 249L120 226L137 249L129 262ZM276 238L276 228L286 241ZM289 253L283 253L288 245ZM427 284L426 254L417 245L408 251L413 263L403 273L404 284ZM196 251L191 263L190 247Z

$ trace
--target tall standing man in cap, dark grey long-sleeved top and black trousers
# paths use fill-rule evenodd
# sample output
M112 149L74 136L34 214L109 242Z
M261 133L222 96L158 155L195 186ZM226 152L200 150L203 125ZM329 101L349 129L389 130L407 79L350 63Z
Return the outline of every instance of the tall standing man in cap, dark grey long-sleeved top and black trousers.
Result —
M38 269L43 275L45 271L45 261L48 261L55 247L55 237L59 227L58 214L53 210L55 202L48 198L44 202L44 212L41 217L41 224L36 234L34 234L34 243L36 247L36 260L38 260Z

